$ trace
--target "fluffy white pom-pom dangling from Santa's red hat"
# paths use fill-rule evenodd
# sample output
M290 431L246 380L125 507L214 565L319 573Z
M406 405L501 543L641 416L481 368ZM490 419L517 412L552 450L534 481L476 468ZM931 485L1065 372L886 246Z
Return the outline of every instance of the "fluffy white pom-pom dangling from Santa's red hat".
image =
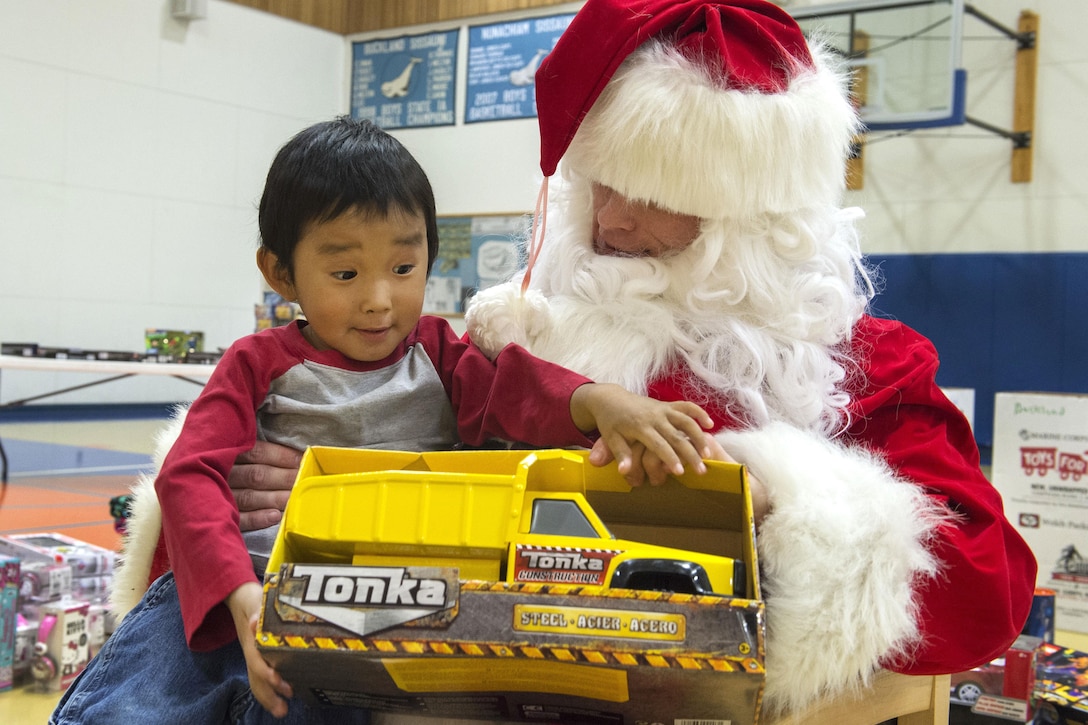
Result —
M495 359L515 343L532 352L532 343L552 325L548 302L536 290L521 293L518 282L506 282L475 293L465 310L469 339Z

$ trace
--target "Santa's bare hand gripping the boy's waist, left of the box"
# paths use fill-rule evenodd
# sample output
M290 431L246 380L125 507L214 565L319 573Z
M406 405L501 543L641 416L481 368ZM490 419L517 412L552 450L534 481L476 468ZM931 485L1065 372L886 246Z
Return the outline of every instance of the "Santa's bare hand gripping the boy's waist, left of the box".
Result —
M301 460L298 451L268 441L258 441L235 459L227 483L238 503L243 531L280 523Z

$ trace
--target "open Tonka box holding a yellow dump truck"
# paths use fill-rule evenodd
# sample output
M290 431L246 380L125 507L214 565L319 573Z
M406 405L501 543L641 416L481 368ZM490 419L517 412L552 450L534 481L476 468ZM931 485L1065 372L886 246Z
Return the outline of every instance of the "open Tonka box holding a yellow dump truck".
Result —
M296 696L479 720L753 725L744 469L630 488L585 452L313 447L258 647Z

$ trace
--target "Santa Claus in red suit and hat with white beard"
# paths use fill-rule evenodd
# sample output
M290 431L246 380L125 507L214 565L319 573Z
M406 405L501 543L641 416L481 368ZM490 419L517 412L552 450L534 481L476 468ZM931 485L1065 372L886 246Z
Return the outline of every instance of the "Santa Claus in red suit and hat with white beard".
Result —
M932 345L866 314L836 59L759 0L589 0L536 99L531 266L469 333L712 414L767 505L766 708L1003 653L1036 564Z

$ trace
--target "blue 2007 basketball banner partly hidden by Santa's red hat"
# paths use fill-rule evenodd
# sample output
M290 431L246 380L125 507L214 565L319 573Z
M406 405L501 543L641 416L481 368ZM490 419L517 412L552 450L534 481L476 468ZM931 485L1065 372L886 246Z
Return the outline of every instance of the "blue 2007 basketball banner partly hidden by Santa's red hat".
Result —
M530 17L469 28L465 123L536 115L536 67L574 14Z

